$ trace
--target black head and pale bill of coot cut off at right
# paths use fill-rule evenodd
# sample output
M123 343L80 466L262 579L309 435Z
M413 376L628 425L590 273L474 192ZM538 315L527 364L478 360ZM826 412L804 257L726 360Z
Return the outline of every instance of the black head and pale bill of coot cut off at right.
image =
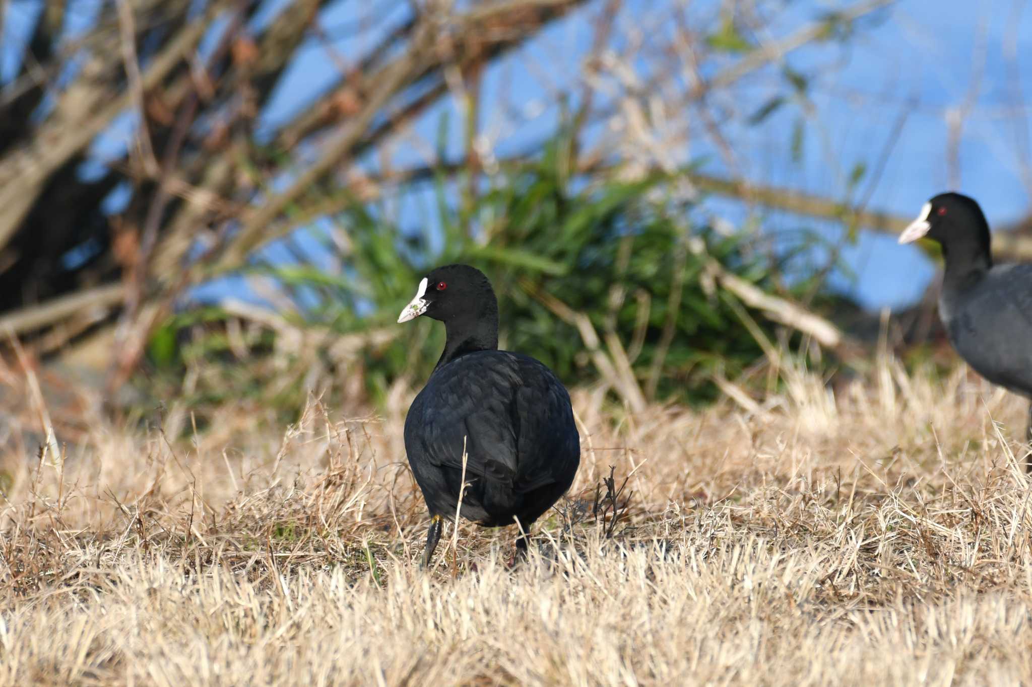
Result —
M925 203L921 214L900 234L900 243L927 238L938 241L946 254L989 257L989 224L973 198L939 194Z

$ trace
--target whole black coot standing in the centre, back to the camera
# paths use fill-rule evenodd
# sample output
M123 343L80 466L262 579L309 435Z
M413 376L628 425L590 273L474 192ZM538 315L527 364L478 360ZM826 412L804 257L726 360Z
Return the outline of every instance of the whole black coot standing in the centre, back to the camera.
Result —
M528 355L498 350L498 304L484 274L467 265L441 267L419 282L398 322L426 315L445 323L444 353L409 408L405 449L430 511L422 566L443 518L462 517L525 535L577 474L580 437L570 396L551 370Z

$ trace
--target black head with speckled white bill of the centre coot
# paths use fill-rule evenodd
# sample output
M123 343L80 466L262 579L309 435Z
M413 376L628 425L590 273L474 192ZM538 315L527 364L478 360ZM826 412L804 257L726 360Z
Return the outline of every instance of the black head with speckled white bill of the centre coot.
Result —
M420 315L455 322L487 318L497 322L498 302L484 273L469 265L446 265L433 270L419 282L416 298L398 316L407 322Z

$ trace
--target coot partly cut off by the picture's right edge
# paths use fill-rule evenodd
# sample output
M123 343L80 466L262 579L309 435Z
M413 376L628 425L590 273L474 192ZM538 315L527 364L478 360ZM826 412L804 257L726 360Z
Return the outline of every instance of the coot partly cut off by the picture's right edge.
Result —
M942 246L939 316L954 348L989 381L1032 399L1032 265L994 267L986 215L960 194L925 203L900 243L920 238ZM1026 439L1032 442L1032 405Z

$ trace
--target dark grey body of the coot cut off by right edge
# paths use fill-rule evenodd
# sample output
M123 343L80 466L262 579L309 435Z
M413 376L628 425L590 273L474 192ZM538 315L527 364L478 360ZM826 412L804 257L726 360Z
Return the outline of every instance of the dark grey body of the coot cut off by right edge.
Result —
M949 312L948 328L957 351L978 374L1032 397L1032 265L990 270Z

